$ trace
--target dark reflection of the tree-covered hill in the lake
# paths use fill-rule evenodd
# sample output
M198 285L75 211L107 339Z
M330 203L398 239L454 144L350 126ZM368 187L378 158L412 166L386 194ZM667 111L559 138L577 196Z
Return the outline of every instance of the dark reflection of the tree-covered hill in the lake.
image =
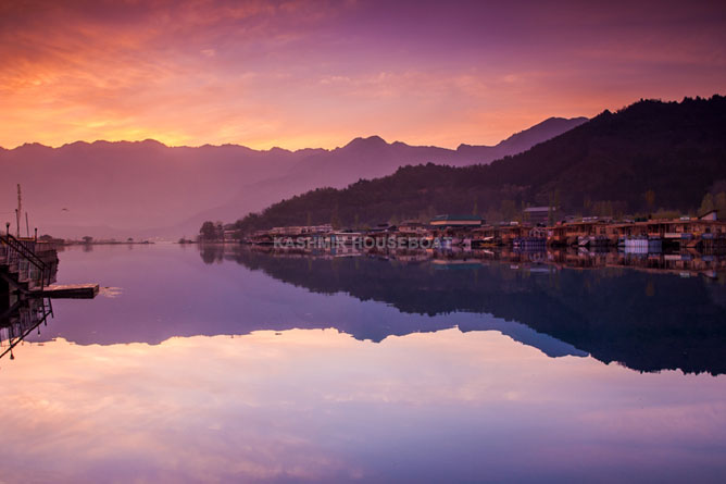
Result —
M280 257L202 249L314 293L345 291L408 313L491 313L549 334L603 362L640 371L726 372L724 278L626 269L555 270L506 261L436 264L371 257ZM465 270L451 270L465 268ZM534 269L534 270L533 270ZM462 330L466 331L465 325Z

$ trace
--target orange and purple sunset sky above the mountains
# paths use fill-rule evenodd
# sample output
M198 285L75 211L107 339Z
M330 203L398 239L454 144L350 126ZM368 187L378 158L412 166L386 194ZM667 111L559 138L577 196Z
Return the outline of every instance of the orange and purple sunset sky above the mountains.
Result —
M0 0L4 148L455 148L725 86L723 1Z

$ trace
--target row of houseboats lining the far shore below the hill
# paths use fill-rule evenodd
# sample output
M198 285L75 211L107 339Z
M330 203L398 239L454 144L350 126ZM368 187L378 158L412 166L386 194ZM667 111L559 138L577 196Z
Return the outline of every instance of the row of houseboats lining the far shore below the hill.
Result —
M668 220L612 220L586 218L554 225L508 222L487 224L475 215L438 215L428 223L406 221L381 224L365 231L336 231L329 224L275 227L243 238L254 245L290 246L358 245L364 248L393 245L418 248L508 246L522 250L547 247L618 247L631 252L660 252L666 249L726 249L726 221L715 211L699 218ZM391 247L392 248L392 247Z

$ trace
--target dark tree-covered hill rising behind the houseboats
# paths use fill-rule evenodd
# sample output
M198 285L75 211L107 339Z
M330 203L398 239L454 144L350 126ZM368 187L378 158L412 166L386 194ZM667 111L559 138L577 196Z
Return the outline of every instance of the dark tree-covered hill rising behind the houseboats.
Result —
M408 165L345 189L283 200L237 226L373 225L445 212L498 220L548 203L581 214L692 211L710 191L726 191L723 96L640 100L488 165Z

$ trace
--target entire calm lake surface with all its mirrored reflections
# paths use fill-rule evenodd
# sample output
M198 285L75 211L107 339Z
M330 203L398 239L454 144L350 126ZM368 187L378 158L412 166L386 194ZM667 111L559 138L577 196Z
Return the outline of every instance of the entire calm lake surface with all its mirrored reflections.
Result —
M726 286L634 270L60 253L1 482L723 482Z

